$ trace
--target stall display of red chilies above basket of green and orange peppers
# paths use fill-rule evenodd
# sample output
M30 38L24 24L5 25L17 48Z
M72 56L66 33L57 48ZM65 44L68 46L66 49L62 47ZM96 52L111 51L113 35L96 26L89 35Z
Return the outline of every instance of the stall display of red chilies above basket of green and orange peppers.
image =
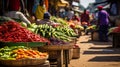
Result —
M48 54L32 48L49 44L49 40L27 30L16 21L1 20L0 64L11 67L46 64Z

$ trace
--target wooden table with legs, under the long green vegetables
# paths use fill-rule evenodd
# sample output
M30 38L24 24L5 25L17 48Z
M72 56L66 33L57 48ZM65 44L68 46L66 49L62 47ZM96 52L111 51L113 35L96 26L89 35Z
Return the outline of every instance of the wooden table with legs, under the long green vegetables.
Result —
M57 59L57 67L63 67L63 61L65 61L65 67L68 67L69 63L69 50L73 48L73 44L70 45L48 45L41 46L38 48L39 51L55 51L56 56L54 58ZM64 53L64 54L63 54ZM63 58L65 57L65 58Z

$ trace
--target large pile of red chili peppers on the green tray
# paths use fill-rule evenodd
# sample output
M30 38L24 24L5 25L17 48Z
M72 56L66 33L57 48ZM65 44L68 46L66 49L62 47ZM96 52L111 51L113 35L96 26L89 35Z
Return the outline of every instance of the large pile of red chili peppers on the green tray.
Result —
M0 25L0 41L2 42L48 42L49 40L37 35L18 22L9 21Z

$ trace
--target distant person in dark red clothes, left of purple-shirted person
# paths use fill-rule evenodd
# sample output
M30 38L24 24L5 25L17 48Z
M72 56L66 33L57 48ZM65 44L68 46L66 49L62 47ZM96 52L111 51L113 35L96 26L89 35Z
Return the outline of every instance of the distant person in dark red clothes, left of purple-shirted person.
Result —
M90 25L90 17L86 9L81 14L81 24L84 27L85 34L87 35L88 32L86 32L86 28Z

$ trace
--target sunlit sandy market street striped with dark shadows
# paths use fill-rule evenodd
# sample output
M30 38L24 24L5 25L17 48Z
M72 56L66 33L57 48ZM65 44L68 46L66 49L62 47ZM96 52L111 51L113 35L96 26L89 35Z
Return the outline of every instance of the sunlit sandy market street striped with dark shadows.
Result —
M120 49L112 48L112 42L91 41L90 36L81 36L80 58L72 59L69 67L120 67Z

